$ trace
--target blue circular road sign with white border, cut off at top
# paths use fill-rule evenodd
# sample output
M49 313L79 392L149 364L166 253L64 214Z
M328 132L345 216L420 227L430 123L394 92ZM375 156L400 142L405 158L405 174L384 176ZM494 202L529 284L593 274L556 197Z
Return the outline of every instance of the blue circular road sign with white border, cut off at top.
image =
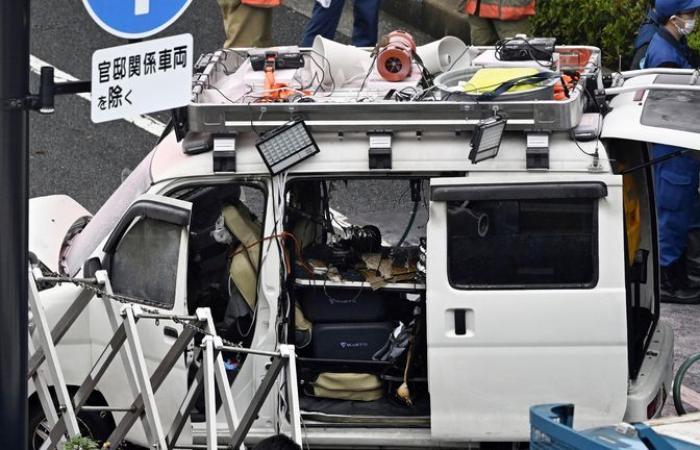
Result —
M166 29L192 0L83 0L93 20L115 36L140 39Z

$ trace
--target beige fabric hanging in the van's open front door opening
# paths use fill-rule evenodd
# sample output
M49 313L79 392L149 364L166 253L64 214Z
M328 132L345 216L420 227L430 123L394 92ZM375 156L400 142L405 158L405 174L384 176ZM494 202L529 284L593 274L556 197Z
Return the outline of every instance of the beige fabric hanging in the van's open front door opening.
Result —
M226 228L241 244L236 248L229 267L229 276L251 309L255 308L260 264L262 226L253 219L248 208L240 202L222 210Z

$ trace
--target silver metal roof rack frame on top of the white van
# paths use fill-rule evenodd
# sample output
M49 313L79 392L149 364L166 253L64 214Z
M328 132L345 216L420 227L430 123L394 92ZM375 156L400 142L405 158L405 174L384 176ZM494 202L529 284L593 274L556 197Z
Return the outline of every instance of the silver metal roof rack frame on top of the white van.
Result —
M477 53L493 47L472 47ZM301 52L309 55L309 49ZM575 128L584 113L588 86L598 86L600 50L588 46L558 46L563 70L581 78L566 100L528 101L357 101L279 103L207 103L207 90L233 76L247 61L245 50L219 50L200 58L202 72L195 75L193 96L187 107L191 132L236 134L264 131L291 120L304 120L319 131L469 131L494 115L507 119L509 130L564 131ZM220 91L219 91L220 92Z

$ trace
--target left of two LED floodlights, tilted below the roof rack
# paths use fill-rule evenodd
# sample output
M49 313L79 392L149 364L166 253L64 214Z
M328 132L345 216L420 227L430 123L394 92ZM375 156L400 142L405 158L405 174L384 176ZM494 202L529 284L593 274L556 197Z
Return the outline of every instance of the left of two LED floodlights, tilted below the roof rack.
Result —
M255 146L272 175L277 175L320 151L302 121L269 131Z

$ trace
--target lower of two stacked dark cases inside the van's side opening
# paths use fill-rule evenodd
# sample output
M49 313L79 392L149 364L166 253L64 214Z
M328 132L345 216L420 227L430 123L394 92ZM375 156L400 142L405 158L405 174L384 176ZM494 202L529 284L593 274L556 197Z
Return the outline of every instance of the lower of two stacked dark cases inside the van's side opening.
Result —
M315 324L313 357L370 361L389 339L396 322Z

